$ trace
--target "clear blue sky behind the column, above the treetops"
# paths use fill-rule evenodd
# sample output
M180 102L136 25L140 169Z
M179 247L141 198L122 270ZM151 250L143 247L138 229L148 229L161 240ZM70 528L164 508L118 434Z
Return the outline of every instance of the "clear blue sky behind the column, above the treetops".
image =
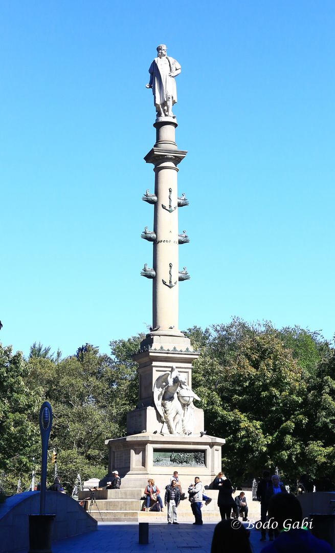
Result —
M2 0L0 339L64 355L151 324L148 69L176 78L181 329L335 331L333 0Z

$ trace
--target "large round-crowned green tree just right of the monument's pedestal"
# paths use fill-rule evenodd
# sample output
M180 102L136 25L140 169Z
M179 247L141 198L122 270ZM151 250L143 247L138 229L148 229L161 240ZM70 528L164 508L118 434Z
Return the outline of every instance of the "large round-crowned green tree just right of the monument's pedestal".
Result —
M226 336L226 364L205 354L193 371L207 431L227 440L224 469L236 482L266 466L295 478L306 471L302 369L275 333L246 332L234 347Z

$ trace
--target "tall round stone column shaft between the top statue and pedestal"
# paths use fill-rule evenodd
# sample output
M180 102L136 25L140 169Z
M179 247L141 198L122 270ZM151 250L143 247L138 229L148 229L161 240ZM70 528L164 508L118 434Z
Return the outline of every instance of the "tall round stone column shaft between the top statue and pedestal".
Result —
M177 165L187 152L178 150L175 143L177 123L170 117L154 123L156 144L145 156L155 171L153 247L153 328L151 336L183 336L178 330L178 200Z

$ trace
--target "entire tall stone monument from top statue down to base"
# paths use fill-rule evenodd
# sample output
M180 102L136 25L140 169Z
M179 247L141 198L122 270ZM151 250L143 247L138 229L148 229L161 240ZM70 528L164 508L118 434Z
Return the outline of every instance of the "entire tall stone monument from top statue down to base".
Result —
M153 477L164 489L175 469L186 478L185 484L195 476L210 484L221 471L224 444L223 439L206 434L203 410L193 404L200 401L192 390L192 362L199 353L178 329L179 283L190 279L186 267L179 270L179 246L189 243L189 237L178 230L179 208L189 206L189 200L184 192L178 196L177 190L178 165L187 152L177 148L177 121L172 113L177 102L175 77L181 66L166 55L164 44L157 53L146 85L154 96L156 142L144 158L154 166L155 189L154 194L147 189L142 197L148 210L154 211L153 230L145 227L141 234L152 243L153 262L152 268L145 263L140 273L153 281L153 321L133 355L138 363L139 401L128 413L127 436L106 440L108 477L117 469L123 488L144 488Z

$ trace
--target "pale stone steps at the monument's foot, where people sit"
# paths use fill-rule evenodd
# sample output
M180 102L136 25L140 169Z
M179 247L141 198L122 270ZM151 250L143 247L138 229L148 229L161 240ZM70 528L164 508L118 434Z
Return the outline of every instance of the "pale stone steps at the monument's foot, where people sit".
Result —
M165 493L165 490L164 490ZM161 492L161 498L164 506L164 493ZM234 497L239 494L237 490ZM90 495L90 492L79 492L78 500L83 501ZM163 512L149 511L145 512L143 488L128 488L128 489L109 489L96 490L96 504L91 500L85 500L85 509L98 522L149 522L149 523L165 523L167 518L167 508L164 506ZM205 505L203 502L202 518L204 521L217 523L220 520L219 508L217 506L218 491L209 489L207 495L212 498L212 502ZM252 501L252 492L245 492L249 507L248 518L250 520L260 519L260 506L258 502ZM241 519L242 520L242 519ZM179 522L193 522L194 517L191 510L191 505L186 499L180 502L178 507Z

